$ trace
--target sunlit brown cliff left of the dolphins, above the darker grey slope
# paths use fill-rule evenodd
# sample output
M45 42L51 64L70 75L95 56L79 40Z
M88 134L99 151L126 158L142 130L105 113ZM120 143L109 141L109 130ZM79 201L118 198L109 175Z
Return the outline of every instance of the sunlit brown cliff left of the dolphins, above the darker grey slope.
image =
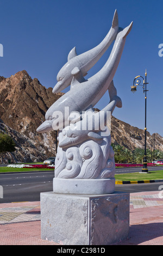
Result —
M55 155L55 132L38 134L37 127L45 120L47 109L62 93L53 94L37 78L23 70L0 77L0 118L11 129L32 139L40 155Z

